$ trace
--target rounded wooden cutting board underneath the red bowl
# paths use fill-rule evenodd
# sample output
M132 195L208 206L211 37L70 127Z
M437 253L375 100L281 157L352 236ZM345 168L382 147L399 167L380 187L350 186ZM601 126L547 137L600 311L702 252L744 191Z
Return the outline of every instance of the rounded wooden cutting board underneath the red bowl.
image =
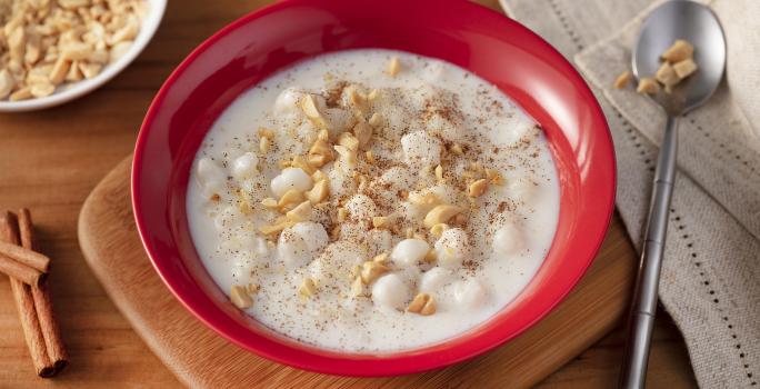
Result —
M164 287L142 249L130 202L131 157L92 191L79 242L106 292L138 335L189 387L528 387L607 335L624 312L633 250L619 221L581 282L548 317L509 343L446 369L350 378L286 367L228 342L192 317Z

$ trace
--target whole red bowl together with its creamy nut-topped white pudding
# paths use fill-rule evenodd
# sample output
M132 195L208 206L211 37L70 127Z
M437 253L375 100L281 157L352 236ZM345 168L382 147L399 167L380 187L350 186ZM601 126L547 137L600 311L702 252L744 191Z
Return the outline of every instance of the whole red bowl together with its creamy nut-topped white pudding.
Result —
M513 338L590 265L614 190L591 92L518 23L429 6L279 3L159 92L138 227L222 336L323 372L420 371Z

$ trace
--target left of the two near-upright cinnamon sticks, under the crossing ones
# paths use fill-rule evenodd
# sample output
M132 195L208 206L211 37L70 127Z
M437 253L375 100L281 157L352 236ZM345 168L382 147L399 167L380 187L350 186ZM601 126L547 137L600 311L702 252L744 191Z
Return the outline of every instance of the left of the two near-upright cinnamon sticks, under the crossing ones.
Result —
M20 242L18 220L16 215L11 212L0 215L0 241L11 245ZM44 338L37 319L31 288L14 278L10 279L10 285L13 300L16 300L16 308L21 319L23 337L27 340L27 347L29 348L37 375L40 377L52 377L56 373L56 369L48 357Z

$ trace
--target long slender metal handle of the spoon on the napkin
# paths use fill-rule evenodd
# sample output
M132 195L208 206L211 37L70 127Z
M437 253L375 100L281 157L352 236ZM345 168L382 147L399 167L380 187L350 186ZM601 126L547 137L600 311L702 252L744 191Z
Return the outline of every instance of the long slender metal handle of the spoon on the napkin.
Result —
M631 302L620 388L643 388L647 378L649 345L657 312L657 290L668 229L670 197L676 178L677 152L678 118L668 116L660 154L657 159L646 239L641 247L641 262Z

